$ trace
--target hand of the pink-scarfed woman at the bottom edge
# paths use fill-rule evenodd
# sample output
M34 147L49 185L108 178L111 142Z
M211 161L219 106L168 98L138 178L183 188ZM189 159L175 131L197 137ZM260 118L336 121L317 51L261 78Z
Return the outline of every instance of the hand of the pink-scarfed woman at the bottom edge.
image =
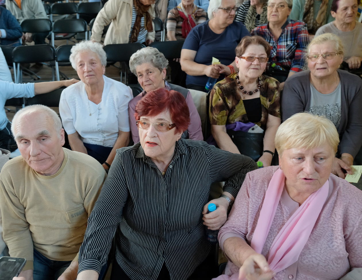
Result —
M245 259L239 269L239 280L270 280L275 276L275 272L270 270L265 256L252 254Z

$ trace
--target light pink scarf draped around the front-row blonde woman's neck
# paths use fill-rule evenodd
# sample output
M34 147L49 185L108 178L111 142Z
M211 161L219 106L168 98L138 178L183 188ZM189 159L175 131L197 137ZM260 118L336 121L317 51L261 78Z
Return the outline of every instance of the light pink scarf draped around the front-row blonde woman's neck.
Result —
M260 211L260 216L251 240L251 247L259 254L264 247L270 226L284 189L285 176L281 169L275 171L271 178ZM275 273L282 271L295 263L306 245L320 211L327 200L329 192L328 180L317 191L313 192L306 201L294 212L285 223L271 244L268 264ZM237 280L238 274L221 275L217 280Z

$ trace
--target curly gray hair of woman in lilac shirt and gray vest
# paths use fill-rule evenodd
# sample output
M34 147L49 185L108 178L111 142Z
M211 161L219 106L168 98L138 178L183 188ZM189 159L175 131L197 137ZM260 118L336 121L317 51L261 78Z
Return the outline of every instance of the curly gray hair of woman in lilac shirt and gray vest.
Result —
M168 65L168 60L165 58L163 53L153 47L145 47L134 54L130 58L130 70L137 76L136 67L143 63L151 63L153 67L158 68L162 71Z

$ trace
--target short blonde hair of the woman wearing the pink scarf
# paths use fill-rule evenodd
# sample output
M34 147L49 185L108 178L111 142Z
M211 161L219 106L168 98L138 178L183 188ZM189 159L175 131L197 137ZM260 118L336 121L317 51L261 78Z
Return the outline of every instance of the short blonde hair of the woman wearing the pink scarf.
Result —
M275 148L281 156L285 149L314 149L325 143L337 152L339 135L333 122L325 116L303 112L283 122L275 135Z

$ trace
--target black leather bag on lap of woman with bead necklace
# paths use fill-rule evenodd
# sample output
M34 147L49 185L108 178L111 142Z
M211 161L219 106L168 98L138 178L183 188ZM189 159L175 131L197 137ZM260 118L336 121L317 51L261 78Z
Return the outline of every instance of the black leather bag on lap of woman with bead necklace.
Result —
M255 161L263 154L264 133L227 130L227 134L239 149L240 154L250 156Z

